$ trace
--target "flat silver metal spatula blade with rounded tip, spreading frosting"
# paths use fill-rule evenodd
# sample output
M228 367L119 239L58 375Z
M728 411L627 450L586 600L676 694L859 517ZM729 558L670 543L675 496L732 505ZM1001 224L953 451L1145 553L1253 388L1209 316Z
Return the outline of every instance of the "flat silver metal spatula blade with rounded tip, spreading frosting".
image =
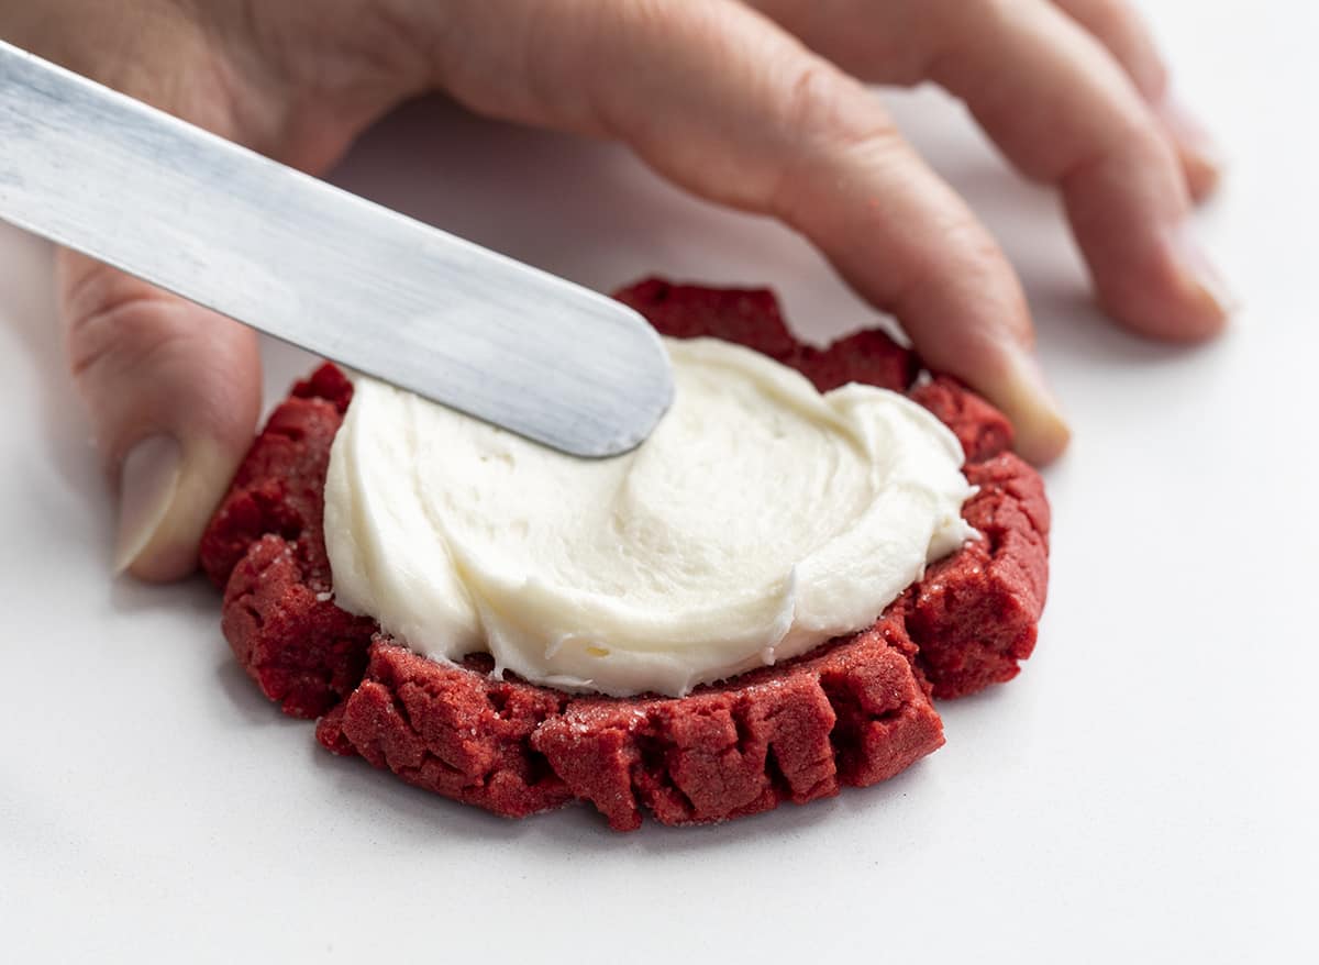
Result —
M641 443L637 312L0 42L0 219L578 456Z

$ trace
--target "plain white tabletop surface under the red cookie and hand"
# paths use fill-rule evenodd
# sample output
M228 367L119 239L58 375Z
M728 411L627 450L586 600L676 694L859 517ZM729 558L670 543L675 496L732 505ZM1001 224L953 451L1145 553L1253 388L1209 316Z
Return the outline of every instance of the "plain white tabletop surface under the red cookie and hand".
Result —
M1108 327L1053 202L938 98L901 104L1021 266L1078 431L1039 649L902 776L725 827L413 791L266 704L207 587L111 583L49 253L0 231L4 958L1315 961L1319 66L1312 5L1269 7L1154 7L1232 156L1200 221L1246 307L1203 349ZM871 316L613 148L412 111L343 181L599 287L770 281L815 334ZM272 392L305 366L273 351Z

